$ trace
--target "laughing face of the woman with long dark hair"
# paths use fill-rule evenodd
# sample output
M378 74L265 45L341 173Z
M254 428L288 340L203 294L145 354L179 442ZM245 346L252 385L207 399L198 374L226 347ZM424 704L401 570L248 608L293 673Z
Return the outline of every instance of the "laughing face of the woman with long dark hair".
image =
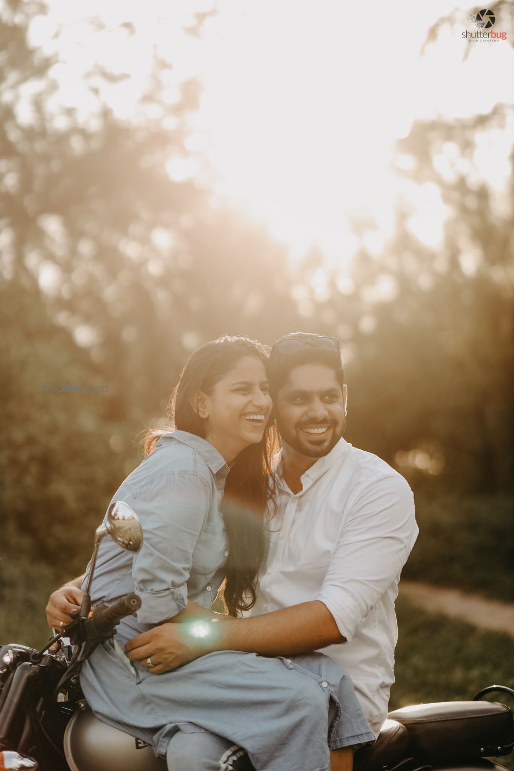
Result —
M260 442L270 417L266 370L257 356L243 356L218 380L210 395L200 393L198 414L205 420L205 439L228 463L250 444Z

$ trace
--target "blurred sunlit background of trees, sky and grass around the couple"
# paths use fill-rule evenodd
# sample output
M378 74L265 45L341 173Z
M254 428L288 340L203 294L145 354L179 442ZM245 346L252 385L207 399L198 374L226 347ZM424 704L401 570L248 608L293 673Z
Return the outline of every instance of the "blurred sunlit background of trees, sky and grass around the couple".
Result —
M415 491L405 578L514 601L514 7L495 42L478 10L0 2L2 641L48 637L224 333L338 335L346 438ZM509 635L398 613L392 706L514 685Z

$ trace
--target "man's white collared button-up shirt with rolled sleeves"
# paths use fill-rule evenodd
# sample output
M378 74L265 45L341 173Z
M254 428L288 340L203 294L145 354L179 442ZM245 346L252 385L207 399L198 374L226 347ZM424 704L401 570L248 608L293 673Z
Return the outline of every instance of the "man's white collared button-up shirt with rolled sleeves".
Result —
M394 682L398 581L418 535L412 491L385 461L344 439L304 473L295 495L280 461L279 453L267 569L250 612L323 602L346 642L322 652L351 676L377 734Z

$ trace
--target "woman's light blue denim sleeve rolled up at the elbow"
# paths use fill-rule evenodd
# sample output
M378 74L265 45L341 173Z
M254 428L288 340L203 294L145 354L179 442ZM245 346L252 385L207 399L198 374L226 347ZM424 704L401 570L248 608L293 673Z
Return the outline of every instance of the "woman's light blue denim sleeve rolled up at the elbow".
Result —
M146 484L131 503L143 526L143 546L132 567L142 600L137 618L143 624L159 624L185 610L193 550L210 495L203 476L170 473Z

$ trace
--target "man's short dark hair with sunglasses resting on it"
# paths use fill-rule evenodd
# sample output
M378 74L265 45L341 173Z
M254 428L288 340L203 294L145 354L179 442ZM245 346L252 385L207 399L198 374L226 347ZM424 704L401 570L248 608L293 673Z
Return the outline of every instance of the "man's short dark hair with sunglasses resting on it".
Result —
M319 338L321 335L314 335L311 332L290 332L284 335L271 348L270 358L267 360L267 377L270 383L271 398L275 400L277 392L287 381L291 369L303 364L324 364L334 370L336 379L341 385L341 391L344 384L344 368L341 363L341 353L336 350L324 347L317 347L311 344L311 340ZM300 340L304 346L293 353L281 353L276 347L278 342L287 340Z

